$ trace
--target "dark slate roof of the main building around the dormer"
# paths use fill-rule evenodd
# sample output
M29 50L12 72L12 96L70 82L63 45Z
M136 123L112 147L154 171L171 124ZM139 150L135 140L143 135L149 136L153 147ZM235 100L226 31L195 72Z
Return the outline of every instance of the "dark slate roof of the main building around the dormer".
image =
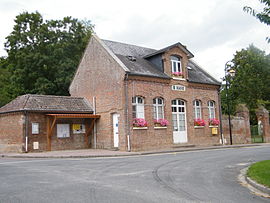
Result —
M103 43L120 59L120 61L129 69L128 74L141 75L149 77L159 77L164 79L170 79L171 77L159 70L153 63L149 62L146 58L152 57L165 52L166 50L178 46L183 49L189 57L193 57L193 54L186 49L181 43L168 46L164 49L155 50L145 47L140 47L131 44L125 44L121 42L114 42L109 40L102 40ZM130 60L129 57L134 57L134 60ZM189 81L195 83L220 85L220 82L209 75L205 70L198 66L194 61L189 60L188 69Z

